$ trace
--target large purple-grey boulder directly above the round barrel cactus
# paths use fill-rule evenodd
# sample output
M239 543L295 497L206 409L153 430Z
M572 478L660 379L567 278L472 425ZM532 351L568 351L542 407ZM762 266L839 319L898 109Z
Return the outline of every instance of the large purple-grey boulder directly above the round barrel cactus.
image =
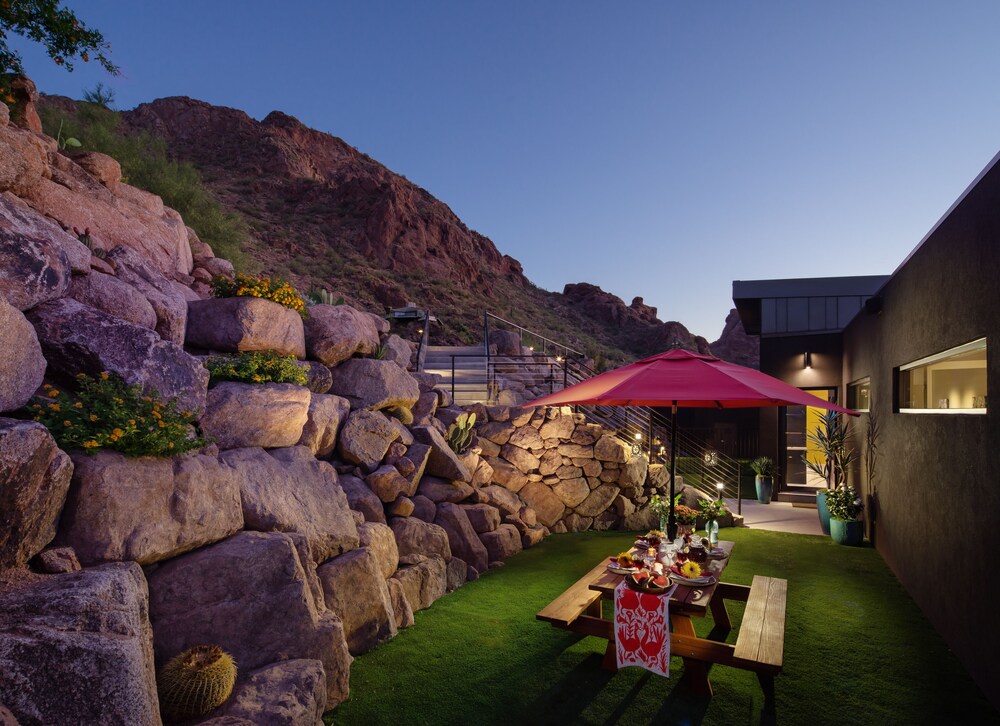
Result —
M347 698L352 658L344 629L324 606L294 535L240 532L189 552L153 571L149 592L158 663L204 643L218 644L244 671L315 659L326 673L327 706Z

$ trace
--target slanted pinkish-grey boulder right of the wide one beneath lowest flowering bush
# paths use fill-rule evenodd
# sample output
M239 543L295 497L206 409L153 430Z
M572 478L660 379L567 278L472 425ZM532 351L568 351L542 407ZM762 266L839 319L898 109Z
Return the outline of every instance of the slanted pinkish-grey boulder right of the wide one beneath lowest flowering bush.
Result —
M246 529L302 534L317 562L358 546L336 470L304 446L232 449L222 461L235 473Z

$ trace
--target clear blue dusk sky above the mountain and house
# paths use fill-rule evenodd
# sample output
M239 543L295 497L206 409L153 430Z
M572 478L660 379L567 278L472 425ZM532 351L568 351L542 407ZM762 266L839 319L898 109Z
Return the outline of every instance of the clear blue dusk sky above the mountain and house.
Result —
M889 273L1000 148L1000 3L71 0L124 76L344 138L538 285L710 340L734 279Z

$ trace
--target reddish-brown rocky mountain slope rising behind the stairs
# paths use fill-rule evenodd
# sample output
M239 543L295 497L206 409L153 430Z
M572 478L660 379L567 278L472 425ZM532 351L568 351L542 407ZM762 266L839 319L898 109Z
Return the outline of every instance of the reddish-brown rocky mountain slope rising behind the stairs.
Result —
M74 108L68 99L46 102L66 113ZM442 320L436 343L479 342L489 310L612 363L670 347L709 350L704 338L661 321L641 298L626 305L587 283L562 294L537 288L517 260L429 192L286 114L256 121L235 109L165 98L121 118L127 131L165 139L171 155L192 162L224 206L249 222L248 251L261 269L375 312L414 301ZM712 349L755 364L738 320Z

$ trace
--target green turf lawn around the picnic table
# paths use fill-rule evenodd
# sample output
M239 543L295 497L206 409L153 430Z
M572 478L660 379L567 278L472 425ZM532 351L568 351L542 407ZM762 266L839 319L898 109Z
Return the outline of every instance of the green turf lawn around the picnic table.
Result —
M870 547L826 537L723 530L735 541L727 582L788 584L785 667L777 721L788 724L997 723L957 659ZM671 677L600 667L605 641L535 620L535 613L632 536L550 537L417 613L416 625L357 658L337 724L757 723L753 673L712 668L715 696ZM607 606L606 606L607 607ZM735 642L742 603L727 601ZM695 618L699 635L711 617Z

